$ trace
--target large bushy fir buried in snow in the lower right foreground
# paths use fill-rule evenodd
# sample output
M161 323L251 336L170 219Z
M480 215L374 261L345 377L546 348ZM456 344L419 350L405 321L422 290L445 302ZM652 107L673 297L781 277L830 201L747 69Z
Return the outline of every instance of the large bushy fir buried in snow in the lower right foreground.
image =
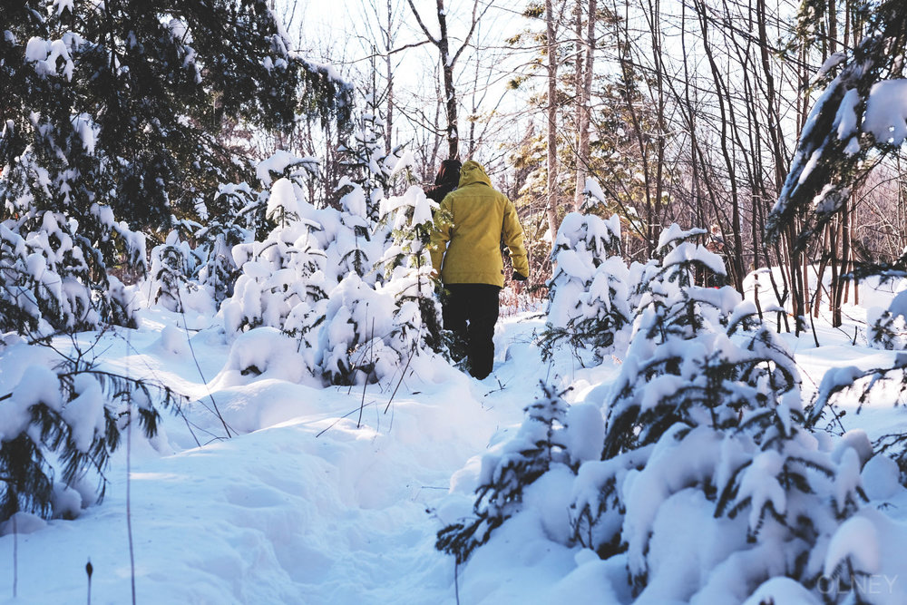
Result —
M733 561L727 567L748 561L752 573L733 571L737 583L745 582L737 592L755 590L757 583L746 582L779 573L814 590L829 540L866 501L863 456L849 446L831 452L805 429L793 359L749 303L728 318L725 334L670 342L687 346L685 356L663 364L671 355L659 353L645 364L653 374L632 371L643 413L623 426L610 416L602 461L580 466L571 506L574 539L603 557L627 551L638 595L649 585L663 589L666 557L676 557L678 548L697 556L693 544L660 537L663 515L692 498L714 506L714 527L702 532L722 536L725 558ZM666 371L671 366L677 373ZM626 385L619 379L615 403L627 396ZM617 440L619 429L631 435ZM609 455L609 444L616 454ZM670 555L666 544L673 544ZM786 562L779 566L781 551ZM678 599L729 598L723 571L697 573L702 581Z

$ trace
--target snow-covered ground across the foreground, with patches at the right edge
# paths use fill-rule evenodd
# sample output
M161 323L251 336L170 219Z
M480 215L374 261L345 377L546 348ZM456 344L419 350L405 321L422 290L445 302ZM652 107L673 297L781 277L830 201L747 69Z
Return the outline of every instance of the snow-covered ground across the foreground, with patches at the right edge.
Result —
M82 348L100 338L93 350L103 365L169 385L191 403L180 414L163 412L151 443L132 434L114 454L101 504L72 521L20 514L17 536L6 524L0 602L86 602L88 561L93 603L130 602L130 522L140 603L632 600L622 557L600 561L551 542L543 515L514 517L456 571L434 549L436 532L471 512L482 454L521 424L539 381L571 386L565 398L578 402L606 388L619 362L586 368L569 351L542 362L532 332L543 320L522 313L499 323L494 372L483 381L439 360L426 376L411 370L396 392L398 377L365 389L316 389L225 369L229 347L219 328L204 316L190 317L189 330L183 321L146 310L138 330L78 338ZM829 367L892 361L890 352L852 346L848 326L817 322L818 348L812 334L785 337L806 390ZM0 392L42 354L8 347ZM891 401L870 402L859 415L856 405L842 409L844 427L871 438L907 430L907 412ZM235 436L224 438L224 423ZM531 489L560 506L559 481L549 473ZM885 495L891 535L907 536L904 491Z

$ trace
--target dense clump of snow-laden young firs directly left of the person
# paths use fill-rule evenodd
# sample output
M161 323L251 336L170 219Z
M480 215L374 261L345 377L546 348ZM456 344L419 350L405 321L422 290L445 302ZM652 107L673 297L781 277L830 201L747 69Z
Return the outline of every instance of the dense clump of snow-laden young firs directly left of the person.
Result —
M268 207L283 209L283 224L234 247L240 274L220 308L230 338L277 328L307 352L307 371L330 384L375 382L440 342L424 193L386 200L396 243L382 257L385 236L356 191L343 211L316 209L296 184L275 181Z

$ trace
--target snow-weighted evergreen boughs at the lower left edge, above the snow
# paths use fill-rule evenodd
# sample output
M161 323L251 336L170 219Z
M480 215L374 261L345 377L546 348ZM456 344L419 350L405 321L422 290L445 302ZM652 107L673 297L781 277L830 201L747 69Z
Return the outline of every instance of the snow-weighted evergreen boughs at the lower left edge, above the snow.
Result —
M65 503L60 493L84 492L89 474L96 475L102 498L108 458L132 415L151 437L160 418L151 395L164 406L177 402L165 386L78 359L66 359L55 370L28 366L13 390L0 395L0 521L20 511L44 517L76 513L56 503Z

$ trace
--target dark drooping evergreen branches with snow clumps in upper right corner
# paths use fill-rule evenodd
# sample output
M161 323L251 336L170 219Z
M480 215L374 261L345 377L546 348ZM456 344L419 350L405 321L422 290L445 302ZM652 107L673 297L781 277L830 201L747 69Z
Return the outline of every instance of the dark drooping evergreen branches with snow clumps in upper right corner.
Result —
M828 6L821 0L803 3L798 19L802 38L814 38ZM769 238L778 238L795 219L803 225L795 234L800 249L847 210L853 190L877 163L868 160L898 152L907 139L902 58L907 8L900 0L866 0L854 10L864 15L862 38L822 66L816 84L824 84L824 93L805 121L784 187L768 215ZM902 253L893 267L907 275L907 255ZM874 266L876 272L882 269Z

